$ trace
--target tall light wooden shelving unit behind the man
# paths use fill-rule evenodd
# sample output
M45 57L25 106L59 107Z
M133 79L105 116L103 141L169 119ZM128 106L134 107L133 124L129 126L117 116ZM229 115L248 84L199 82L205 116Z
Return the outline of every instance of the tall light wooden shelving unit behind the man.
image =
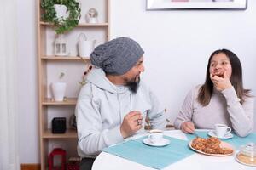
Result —
M56 116L68 116L74 113L75 105L77 103L77 97L79 92L77 81L84 72L84 63L90 62L89 56L87 58L80 58L78 54L70 54L69 56L55 56L53 53L53 40L55 39L54 26L50 23L41 20L40 16L42 9L40 3L43 0L38 0L38 115L39 115L39 140L40 140L40 163L41 169L48 169L47 158L49 152L53 149L52 145L58 145L55 143L65 143L69 145L70 140L73 142L73 148L76 148L77 144L77 132L67 124L66 133L56 134L51 133L51 118ZM72 49L75 49L76 44L74 40L77 40L80 32L85 32L90 38L97 39L98 43L107 42L110 30L109 30L109 6L110 0L84 0L80 1L81 6L81 19L80 24L73 31L67 33L67 40L73 43ZM85 7L85 8L83 8ZM89 8L99 8L99 14L102 18L99 18L99 23L88 24L82 19L86 11ZM102 10L102 11L100 11ZM98 44L96 44L98 45ZM72 52L73 52L72 51ZM81 69L80 69L81 68ZM50 94L50 82L55 81L53 75L58 75L59 71L67 71L69 77L67 82L72 84L67 88L67 100L56 102L52 99ZM77 74L75 71L79 71ZM73 73L74 72L74 73ZM68 75L68 74L67 74ZM71 93L73 92L73 94ZM68 112L68 113L67 113ZM67 119L68 122L68 119ZM52 144L53 143L53 144ZM65 148L64 148L65 149ZM76 152L76 151L75 151ZM68 155L67 150L67 155ZM74 155L77 156L77 155Z

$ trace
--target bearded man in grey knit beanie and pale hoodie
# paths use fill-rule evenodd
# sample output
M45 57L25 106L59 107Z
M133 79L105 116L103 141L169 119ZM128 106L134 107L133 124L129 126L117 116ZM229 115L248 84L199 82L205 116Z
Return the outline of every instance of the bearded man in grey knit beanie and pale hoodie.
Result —
M143 133L145 116L153 128L166 126L164 110L140 82L143 48L128 37L106 42L90 54L90 71L76 106L80 169L90 169L102 149Z

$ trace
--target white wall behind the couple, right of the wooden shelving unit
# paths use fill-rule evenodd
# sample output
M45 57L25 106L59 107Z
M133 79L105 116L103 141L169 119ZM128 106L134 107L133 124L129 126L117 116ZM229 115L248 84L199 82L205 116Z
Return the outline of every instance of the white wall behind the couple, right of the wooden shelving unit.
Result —
M256 91L256 1L247 10L146 11L146 0L113 0L111 38L132 37L145 50L145 82L173 121L190 88L204 82L207 59L228 48L241 59L246 88Z

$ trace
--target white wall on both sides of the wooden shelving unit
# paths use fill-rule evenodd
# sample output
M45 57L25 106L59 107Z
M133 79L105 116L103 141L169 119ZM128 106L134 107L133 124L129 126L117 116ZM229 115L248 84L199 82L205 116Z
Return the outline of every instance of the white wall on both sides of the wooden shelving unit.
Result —
M36 1L18 1L20 162L39 162ZM256 92L256 1L245 11L146 11L146 0L112 0L111 37L132 37L145 50L143 79L171 119L190 88L203 82L213 50L241 59L246 88Z

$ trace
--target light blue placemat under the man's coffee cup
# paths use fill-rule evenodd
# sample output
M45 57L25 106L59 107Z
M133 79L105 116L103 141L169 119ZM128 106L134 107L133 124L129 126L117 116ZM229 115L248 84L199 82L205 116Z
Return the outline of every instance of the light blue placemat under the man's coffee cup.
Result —
M165 136L165 139L170 140L169 145L153 147L143 144L145 138L147 137L113 145L103 151L156 169L167 167L195 153L189 149L185 140Z

